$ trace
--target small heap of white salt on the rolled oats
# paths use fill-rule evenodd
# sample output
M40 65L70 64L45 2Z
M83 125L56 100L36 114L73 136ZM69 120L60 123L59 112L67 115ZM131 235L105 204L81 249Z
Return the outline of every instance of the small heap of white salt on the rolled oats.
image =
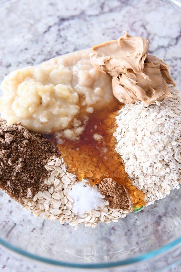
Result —
M105 200L97 187L93 190L91 186L84 186L82 182L75 183L71 190L68 190L68 195L74 200L72 211L78 215L105 206Z

